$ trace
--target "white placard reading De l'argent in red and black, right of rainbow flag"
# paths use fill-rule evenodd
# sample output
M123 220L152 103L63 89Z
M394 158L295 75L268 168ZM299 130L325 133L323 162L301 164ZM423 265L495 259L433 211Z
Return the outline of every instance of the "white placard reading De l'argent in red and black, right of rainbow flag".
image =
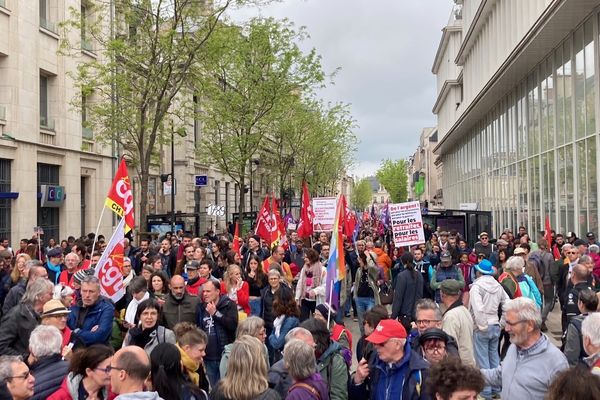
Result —
M396 247L425 243L421 205L418 201L390 204L389 212Z

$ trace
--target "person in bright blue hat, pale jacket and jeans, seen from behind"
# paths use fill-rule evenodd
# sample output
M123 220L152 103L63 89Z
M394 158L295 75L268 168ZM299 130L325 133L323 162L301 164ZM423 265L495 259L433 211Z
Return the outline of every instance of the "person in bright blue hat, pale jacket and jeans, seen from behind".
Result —
M493 369L500 365L498 342L500 340L500 319L498 310L510 297L493 277L494 268L488 260L475 265L475 281L471 285L469 310L473 317L473 344L475 361L479 368ZM500 393L499 387L486 386L482 396L489 400Z

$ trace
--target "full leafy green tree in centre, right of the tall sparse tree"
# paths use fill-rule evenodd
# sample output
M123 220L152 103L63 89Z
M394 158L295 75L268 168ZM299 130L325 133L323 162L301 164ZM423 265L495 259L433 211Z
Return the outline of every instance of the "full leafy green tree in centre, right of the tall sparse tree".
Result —
M246 26L221 24L210 41L212 57L198 76L197 118L205 134L198 151L241 188L240 217L250 161L271 151L277 122L325 79L316 52L298 47L305 37L287 21L253 19Z

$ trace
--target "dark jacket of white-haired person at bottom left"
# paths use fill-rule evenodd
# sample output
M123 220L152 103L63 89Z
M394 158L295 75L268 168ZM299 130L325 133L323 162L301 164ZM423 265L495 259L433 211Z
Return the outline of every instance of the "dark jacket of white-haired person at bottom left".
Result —
M56 392L69 373L69 362L62 360L60 354L40 358L32 367L35 377L31 400L44 400Z

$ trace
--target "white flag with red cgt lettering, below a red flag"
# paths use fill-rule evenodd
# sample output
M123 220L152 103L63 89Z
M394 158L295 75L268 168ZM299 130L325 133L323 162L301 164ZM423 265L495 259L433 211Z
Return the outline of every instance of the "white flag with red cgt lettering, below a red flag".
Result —
M121 218L115 233L102 252L94 275L100 280L100 294L112 301L118 301L125 294L123 287L123 239L125 239L125 218Z

